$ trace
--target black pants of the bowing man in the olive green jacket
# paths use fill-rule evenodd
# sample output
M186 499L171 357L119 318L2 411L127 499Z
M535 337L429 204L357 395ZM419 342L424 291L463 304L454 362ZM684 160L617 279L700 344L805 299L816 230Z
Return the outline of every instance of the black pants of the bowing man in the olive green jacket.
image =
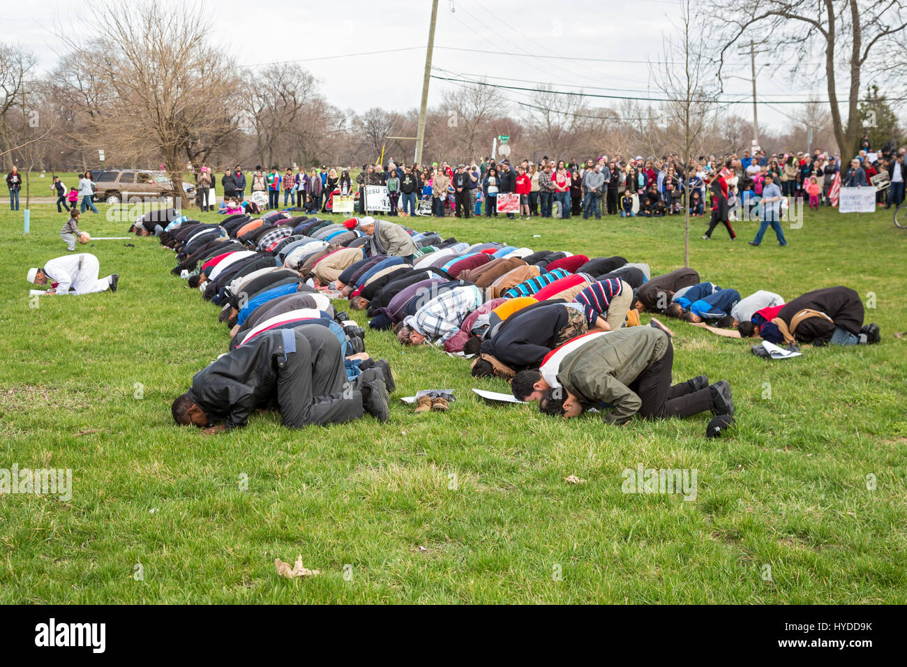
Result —
M674 346L668 341L665 356L650 364L639 378L629 386L639 395L642 405L639 417L664 419L666 417L690 417L706 412L712 407L712 392L705 389L693 390L687 382L671 386L671 368L674 366Z

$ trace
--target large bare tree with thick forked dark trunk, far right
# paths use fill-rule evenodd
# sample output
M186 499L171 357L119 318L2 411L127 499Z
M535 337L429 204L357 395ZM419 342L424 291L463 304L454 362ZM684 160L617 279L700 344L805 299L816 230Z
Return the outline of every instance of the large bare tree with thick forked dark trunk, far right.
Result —
M775 49L793 47L801 60L824 53L824 78L829 112L844 158L855 155L862 132L858 103L863 68L871 52L901 53L898 39L907 28L902 0L729 0L714 15L723 22L721 49L728 50L754 30L771 34ZM890 66L883 58L883 65ZM900 64L902 59L894 59ZM806 68L806 75L818 74ZM847 98L838 95L836 79L844 81ZM846 121L841 107L846 109Z

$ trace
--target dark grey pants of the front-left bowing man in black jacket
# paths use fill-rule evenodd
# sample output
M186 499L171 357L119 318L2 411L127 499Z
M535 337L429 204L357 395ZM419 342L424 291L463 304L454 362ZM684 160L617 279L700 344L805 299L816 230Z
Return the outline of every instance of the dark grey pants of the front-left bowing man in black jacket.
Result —
M327 327L293 330L296 352L278 368L278 406L285 427L341 424L362 417L362 394L346 380L340 341Z

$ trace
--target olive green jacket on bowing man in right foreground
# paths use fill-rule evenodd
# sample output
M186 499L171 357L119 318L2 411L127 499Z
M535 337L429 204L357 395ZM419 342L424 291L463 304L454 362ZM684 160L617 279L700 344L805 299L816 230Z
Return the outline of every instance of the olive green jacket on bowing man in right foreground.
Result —
M561 361L558 382L583 405L608 403L602 415L609 424L625 424L642 405L629 385L665 356L668 334L651 327L619 329L576 348Z

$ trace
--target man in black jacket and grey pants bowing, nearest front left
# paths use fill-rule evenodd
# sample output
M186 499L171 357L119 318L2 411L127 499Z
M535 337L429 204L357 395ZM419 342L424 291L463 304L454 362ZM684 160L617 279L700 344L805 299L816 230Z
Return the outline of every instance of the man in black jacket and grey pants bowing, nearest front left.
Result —
M290 428L339 424L363 410L385 422L388 384L377 366L349 382L336 336L310 325L268 331L218 358L195 374L171 411L177 424L206 433L244 427L254 410L275 406Z

